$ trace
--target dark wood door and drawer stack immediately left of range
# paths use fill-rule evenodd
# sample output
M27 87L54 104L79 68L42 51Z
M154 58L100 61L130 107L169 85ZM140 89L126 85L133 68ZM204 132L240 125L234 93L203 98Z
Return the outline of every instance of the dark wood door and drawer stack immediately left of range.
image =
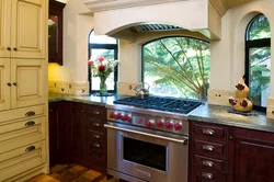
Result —
M70 104L70 162L106 172L106 109Z

